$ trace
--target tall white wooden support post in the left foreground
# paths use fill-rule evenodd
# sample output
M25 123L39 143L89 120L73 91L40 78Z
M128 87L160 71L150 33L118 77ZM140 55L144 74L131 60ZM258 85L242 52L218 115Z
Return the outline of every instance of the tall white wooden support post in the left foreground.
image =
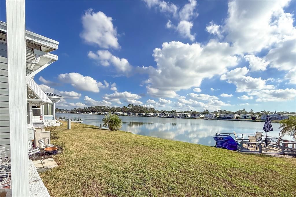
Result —
M25 1L6 1L12 196L29 196Z

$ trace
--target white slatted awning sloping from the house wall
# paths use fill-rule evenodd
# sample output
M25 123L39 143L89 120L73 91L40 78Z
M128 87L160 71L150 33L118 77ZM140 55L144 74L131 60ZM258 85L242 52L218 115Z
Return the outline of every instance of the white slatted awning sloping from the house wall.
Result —
M32 105L52 104L52 101L41 90L33 79L27 79L27 100L32 102Z

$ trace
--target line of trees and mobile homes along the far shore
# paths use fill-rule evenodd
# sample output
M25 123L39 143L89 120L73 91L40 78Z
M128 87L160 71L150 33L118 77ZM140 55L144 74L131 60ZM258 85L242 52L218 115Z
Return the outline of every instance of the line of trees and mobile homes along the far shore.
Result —
M56 108L56 112L135 112L135 113L189 113L189 114L208 114L208 113L215 113L215 114L254 114L254 115L267 115L267 114L296 114L296 112L269 112L269 111L260 111L260 112L254 112L252 109L250 109L249 112L246 111L246 109L239 109L236 112L231 112L228 110L218 110L214 112L209 112L207 109L203 112L197 112L193 110L187 110L187 111L166 111L166 110L157 110L152 107L145 107L141 105L133 105L129 104L128 106L123 107L109 107L109 106L91 106L91 107L83 107L83 108L74 108L74 109L59 109Z

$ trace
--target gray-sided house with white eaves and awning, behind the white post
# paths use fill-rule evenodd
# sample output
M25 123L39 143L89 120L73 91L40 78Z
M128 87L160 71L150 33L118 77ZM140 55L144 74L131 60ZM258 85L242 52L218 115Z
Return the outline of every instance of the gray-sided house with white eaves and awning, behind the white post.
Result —
M62 98L60 96L51 97L46 95L33 79L38 72L57 61L57 55L50 54L49 52L58 49L58 45L59 42L50 38L27 30L25 31L27 130L29 148L32 147L34 137L34 121L36 121L36 119L40 121L41 118L53 120L55 116L54 110L49 106L54 106L54 103ZM6 149L10 149L8 70L7 25L5 22L0 21L0 147L5 147ZM46 110L50 111L51 114L45 115L44 113L47 113ZM43 114L41 114L41 112Z

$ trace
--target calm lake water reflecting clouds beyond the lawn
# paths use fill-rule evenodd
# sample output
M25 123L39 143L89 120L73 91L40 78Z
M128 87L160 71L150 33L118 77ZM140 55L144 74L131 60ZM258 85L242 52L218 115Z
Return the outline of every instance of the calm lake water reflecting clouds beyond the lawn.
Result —
M57 113L57 117L81 118L83 123L99 126L104 115L91 114L63 114ZM214 146L213 136L217 133L255 133L262 131L264 122L243 122L227 120L197 120L181 118L156 118L119 116L123 125L121 130L130 131L139 135L148 135L189 143ZM274 131L269 136L279 136L279 123L272 122ZM263 133L265 134L265 132ZM247 136L246 136L247 137ZM292 139L285 136L285 139Z

